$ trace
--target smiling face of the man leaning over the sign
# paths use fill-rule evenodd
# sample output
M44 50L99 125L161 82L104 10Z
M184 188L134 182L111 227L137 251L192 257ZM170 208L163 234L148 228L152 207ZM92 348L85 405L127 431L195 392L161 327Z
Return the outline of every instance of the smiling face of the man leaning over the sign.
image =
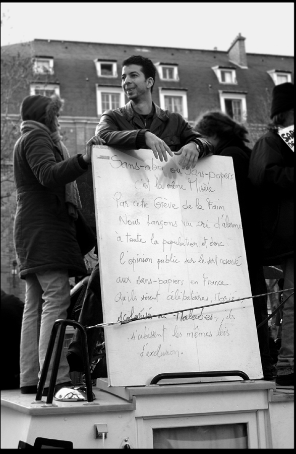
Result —
M145 79L142 67L139 65L124 66L122 71L122 87L129 99L139 99L153 84L152 77Z

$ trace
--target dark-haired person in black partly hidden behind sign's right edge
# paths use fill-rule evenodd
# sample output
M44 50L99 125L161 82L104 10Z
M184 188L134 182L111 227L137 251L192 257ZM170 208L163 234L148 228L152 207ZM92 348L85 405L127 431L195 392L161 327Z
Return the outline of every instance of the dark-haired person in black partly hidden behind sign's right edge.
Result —
M243 235L248 262L248 271L252 295L267 293L256 224L256 194L248 180L249 161L252 150L247 147L247 129L236 123L222 112L208 112L202 116L195 129L208 139L214 146L214 154L231 156L233 160L236 190L240 205ZM267 296L253 298L256 325L258 326L267 316ZM246 329L248 329L246 327ZM258 343L263 369L263 377L272 380L272 358L269 350L268 324L265 323L257 330Z

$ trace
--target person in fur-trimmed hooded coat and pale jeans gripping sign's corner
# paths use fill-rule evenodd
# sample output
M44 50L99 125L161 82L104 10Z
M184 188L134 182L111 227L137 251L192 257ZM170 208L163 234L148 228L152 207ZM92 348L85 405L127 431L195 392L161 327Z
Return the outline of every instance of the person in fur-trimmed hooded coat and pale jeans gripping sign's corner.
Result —
M17 190L14 243L20 277L26 280L21 332L20 388L36 393L49 337L56 319L66 319L70 305L69 277L86 274L75 220L81 203L75 180L87 172L91 146L69 157L58 133L62 108L58 96L27 96L21 104L21 137L13 153ZM52 370L50 362L45 387ZM72 384L62 352L56 390ZM44 389L45 394L46 390Z

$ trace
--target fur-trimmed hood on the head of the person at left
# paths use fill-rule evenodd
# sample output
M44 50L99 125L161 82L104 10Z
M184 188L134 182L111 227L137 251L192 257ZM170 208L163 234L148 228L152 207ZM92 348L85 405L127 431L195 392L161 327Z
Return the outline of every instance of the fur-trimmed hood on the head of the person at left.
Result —
M63 101L60 96L27 96L20 108L22 121L33 120L43 123L50 131L56 130L56 115L61 110Z

